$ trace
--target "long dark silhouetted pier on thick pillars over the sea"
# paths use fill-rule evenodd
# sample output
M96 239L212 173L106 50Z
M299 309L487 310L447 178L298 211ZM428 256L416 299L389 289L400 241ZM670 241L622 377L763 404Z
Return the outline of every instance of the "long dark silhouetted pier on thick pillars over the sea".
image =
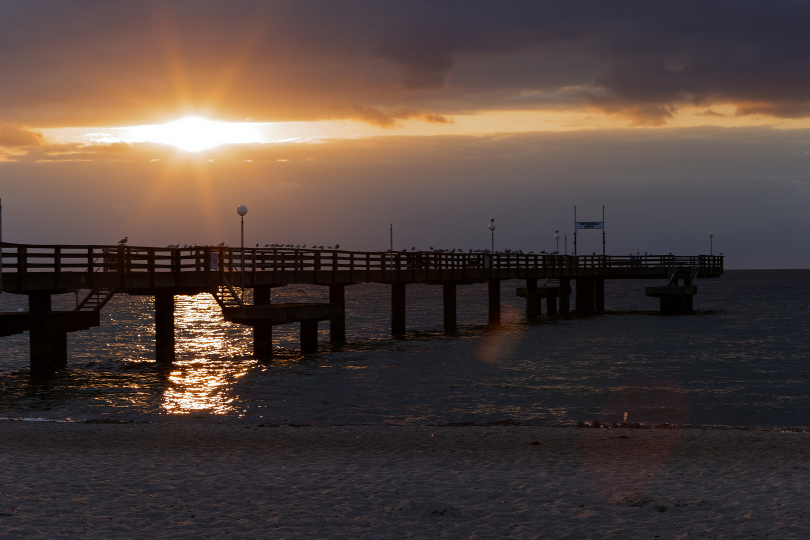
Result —
M243 270L244 269L244 270ZM539 253L360 252L321 249L153 248L125 245L2 244L2 291L28 295L28 313L0 313L0 336L30 334L32 375L66 364L66 333L99 325L98 313L116 294L155 298L156 360L174 359L174 297L210 294L224 321L254 329L254 355L272 357L272 327L301 325L301 351L318 348L318 322L329 321L330 341L346 340L345 288L386 283L390 330L405 334L407 285L442 287L445 331L456 330L456 289L488 283L488 322L501 323L501 281L523 279L526 316L604 311L606 279L665 280L647 287L664 314L691 313L696 279L723 274L723 257L608 256ZM539 280L543 284L539 285ZM575 287L572 290L572 282ZM271 291L308 283L329 287L328 303L273 304ZM247 303L237 289L252 289ZM51 296L87 291L73 312L51 310Z

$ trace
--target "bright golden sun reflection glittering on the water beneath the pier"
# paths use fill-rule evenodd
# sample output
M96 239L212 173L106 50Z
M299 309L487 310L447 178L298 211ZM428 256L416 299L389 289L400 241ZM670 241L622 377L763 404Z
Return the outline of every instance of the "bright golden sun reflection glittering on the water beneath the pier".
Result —
M177 296L175 302L177 360L168 375L172 386L164 391L163 409L171 414L237 411L230 391L256 365L245 355L250 329L223 321L220 306L209 295Z

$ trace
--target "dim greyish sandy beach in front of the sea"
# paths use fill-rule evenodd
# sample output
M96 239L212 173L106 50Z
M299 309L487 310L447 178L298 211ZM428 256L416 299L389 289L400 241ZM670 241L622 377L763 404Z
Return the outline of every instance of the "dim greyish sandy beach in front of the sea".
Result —
M2 421L0 441L2 539L810 538L806 433Z

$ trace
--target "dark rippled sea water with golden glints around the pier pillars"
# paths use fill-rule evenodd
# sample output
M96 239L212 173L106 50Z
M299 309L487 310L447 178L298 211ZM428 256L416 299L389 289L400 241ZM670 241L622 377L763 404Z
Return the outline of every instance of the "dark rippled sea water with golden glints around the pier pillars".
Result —
M276 326L277 355L251 357L251 330L208 295L177 297L177 362L154 362L149 296L118 295L101 326L69 334L70 365L28 377L28 334L0 338L0 416L266 423L430 423L518 419L810 426L810 270L728 270L698 280L696 315L662 317L644 287L606 284L608 313L527 323L520 281L502 283L488 330L486 285L458 287L460 331L441 330L441 287L409 285L408 335L389 336L390 288L347 287L347 338L301 355L298 325ZM323 287L274 301L327 301ZM74 295L54 297L71 308ZM27 309L2 295L0 310Z

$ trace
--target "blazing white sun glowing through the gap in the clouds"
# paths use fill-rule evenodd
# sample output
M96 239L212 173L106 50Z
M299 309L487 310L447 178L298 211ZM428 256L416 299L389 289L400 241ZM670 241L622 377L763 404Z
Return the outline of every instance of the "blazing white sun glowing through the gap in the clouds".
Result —
M132 142L159 142L181 150L197 152L220 144L265 142L261 124L212 121L201 117L156 125L134 125L126 129L125 138Z

